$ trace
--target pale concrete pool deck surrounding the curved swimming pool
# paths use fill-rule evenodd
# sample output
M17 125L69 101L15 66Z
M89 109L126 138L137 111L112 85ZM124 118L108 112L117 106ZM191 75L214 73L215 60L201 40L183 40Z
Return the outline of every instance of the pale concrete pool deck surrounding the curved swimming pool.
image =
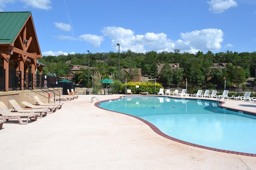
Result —
M92 97L120 96L80 95L28 125L7 121L0 130L0 168L256 169L256 157L184 145L134 117L95 107L95 99L91 103ZM256 103L227 100L222 106L256 113Z

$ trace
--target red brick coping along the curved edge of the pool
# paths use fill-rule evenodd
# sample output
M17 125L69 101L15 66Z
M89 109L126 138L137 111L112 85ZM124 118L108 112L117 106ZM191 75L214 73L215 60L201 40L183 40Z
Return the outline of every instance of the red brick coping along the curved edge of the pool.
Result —
M122 98L124 96L120 96L120 98ZM119 98L119 99L120 99ZM117 99L111 99L111 100L118 100ZM193 100L193 99L192 99ZM203 99L202 99L203 100ZM109 100L103 100L101 102L106 102L106 101L109 101ZM94 106L100 108L100 109L104 109L100 106L98 106L99 102L96 102L94 104ZM226 109L231 109L232 111L242 111L242 110L238 110L238 109L233 109L233 108L229 108L229 107L224 107L222 106L222 104L224 104L224 102L220 102L220 105L221 108L226 108ZM104 110L107 110L107 111L112 111L112 110L108 110L108 109L104 109ZM152 123L140 118L140 117L136 117L136 116L133 116L133 115L129 115L129 114L126 114L126 113L122 113L122 112L118 112L118 111L112 111L112 112L116 112L116 113L121 113L123 115L128 115L128 116L131 116L131 117L134 117L136 119L139 119L140 121L144 122L146 125L148 125L155 133L157 133L158 135L166 138L166 139L170 139L172 141L175 141L175 142L178 142L178 143L182 143L182 144L185 144L185 145L189 145L189 146L192 146L192 147L197 147L197 148L201 148L201 149L207 149L207 150L213 150L213 151L216 151L216 152L223 152L223 153L229 153L229 154L237 154L237 155L243 155L243 156L251 156L251 157L256 157L256 154L251 154L251 153L244 153L244 152L236 152L236 151L231 151L231 150L222 150L222 149L216 149L216 148L211 148L211 147L205 147L205 146L202 146L202 145L197 145L197 144L194 144L194 143L189 143L189 142L186 142L186 141L182 141L180 139L176 139L174 137L170 137L166 134L164 134L162 131L160 131L155 125L153 125ZM243 112L246 112L246 113L249 113L250 115L255 115L255 113L252 113L252 112L248 112L248 111L243 111Z

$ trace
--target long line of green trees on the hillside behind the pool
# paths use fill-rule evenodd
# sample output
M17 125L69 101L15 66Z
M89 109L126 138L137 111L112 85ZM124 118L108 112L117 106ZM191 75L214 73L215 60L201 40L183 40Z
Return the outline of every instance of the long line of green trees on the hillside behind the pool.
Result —
M66 77L70 73L70 65L88 65L88 54L68 54L59 56L43 56L40 62L47 65L43 69L43 74L56 73L59 77ZM69 62L67 62L69 61ZM159 82L165 85L180 84L187 78L188 84L199 85L211 83L213 85L223 84L226 78L227 84L239 85L248 77L255 77L256 73L256 52L232 52L226 51L203 53L198 51L196 54L180 53L175 49L174 52L157 53L149 51L146 53L134 53L130 50L120 53L120 70L122 68L142 69L142 75L149 75L152 78L159 78ZM158 75L157 63L166 63ZM172 70L167 63L179 63L182 70ZM227 64L224 69L210 69L213 63L232 63ZM118 53L90 53L90 78L97 72L102 78L117 79L118 75ZM133 71L136 72L136 71ZM132 74L132 73L131 73ZM134 73L133 73L134 74ZM207 78L211 77L210 81ZM120 72L120 81L129 81L132 75L127 76ZM76 83L83 79L83 84L88 82L88 70L82 69L80 74L74 76Z

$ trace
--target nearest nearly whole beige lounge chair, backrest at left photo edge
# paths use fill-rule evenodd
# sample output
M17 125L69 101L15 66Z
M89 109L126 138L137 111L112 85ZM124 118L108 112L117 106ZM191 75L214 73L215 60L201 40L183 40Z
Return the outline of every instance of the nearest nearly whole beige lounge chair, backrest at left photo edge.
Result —
M26 125L29 120L36 121L39 114L39 112L34 113L33 111L28 113L11 112L3 102L0 102L0 119L17 119L21 125ZM27 118L27 121L24 122L21 118Z

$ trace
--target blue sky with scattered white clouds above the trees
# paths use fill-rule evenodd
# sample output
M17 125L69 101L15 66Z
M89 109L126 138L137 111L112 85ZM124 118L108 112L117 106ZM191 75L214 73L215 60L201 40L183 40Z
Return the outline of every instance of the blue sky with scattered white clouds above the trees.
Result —
M31 11L42 55L256 51L256 0L0 0Z

